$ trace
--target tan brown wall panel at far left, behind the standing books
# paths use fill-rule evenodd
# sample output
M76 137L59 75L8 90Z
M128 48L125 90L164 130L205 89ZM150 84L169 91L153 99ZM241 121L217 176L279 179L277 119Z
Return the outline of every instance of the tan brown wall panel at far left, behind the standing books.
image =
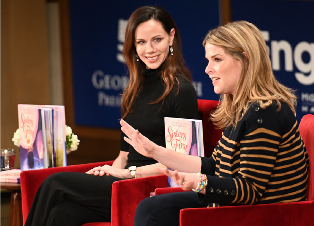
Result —
M1 0L1 148L17 148L18 104L49 104L46 24L45 0Z

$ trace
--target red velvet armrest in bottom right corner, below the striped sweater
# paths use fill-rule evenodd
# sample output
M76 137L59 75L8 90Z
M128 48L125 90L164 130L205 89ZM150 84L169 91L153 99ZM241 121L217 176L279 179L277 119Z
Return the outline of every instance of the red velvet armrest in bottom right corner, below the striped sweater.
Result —
M180 226L311 225L314 201L181 209Z

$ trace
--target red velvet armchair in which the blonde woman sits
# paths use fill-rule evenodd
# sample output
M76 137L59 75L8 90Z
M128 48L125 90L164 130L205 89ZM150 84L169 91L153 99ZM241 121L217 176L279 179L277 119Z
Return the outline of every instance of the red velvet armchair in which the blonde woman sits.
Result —
M310 158L307 201L280 204L190 208L180 211L180 226L295 226L314 222L314 115L300 121L300 134ZM182 191L180 188L157 188L155 194Z

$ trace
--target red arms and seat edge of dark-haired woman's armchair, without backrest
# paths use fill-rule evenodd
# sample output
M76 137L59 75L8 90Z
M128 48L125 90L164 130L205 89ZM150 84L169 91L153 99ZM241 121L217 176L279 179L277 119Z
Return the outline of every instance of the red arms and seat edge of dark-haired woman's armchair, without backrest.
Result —
M21 193L23 225L26 221L31 204L38 187L49 175L61 171L86 172L96 166L109 164L113 161L70 165L65 167L48 168L42 170L26 170L21 172ZM133 181L134 180L134 181ZM130 183L132 182L132 183ZM127 226L133 225L134 213L138 203L149 197L150 192L157 187L166 187L168 182L164 178L143 177L130 180L116 181L112 185L111 222L86 223L84 226Z

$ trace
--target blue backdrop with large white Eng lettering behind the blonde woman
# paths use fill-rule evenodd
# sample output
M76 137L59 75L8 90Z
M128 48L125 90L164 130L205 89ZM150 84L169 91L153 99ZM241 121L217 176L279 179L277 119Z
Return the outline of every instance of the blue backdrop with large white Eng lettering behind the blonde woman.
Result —
M261 31L273 72L297 90L297 119L314 113L314 2L232 0L232 20L247 20Z

